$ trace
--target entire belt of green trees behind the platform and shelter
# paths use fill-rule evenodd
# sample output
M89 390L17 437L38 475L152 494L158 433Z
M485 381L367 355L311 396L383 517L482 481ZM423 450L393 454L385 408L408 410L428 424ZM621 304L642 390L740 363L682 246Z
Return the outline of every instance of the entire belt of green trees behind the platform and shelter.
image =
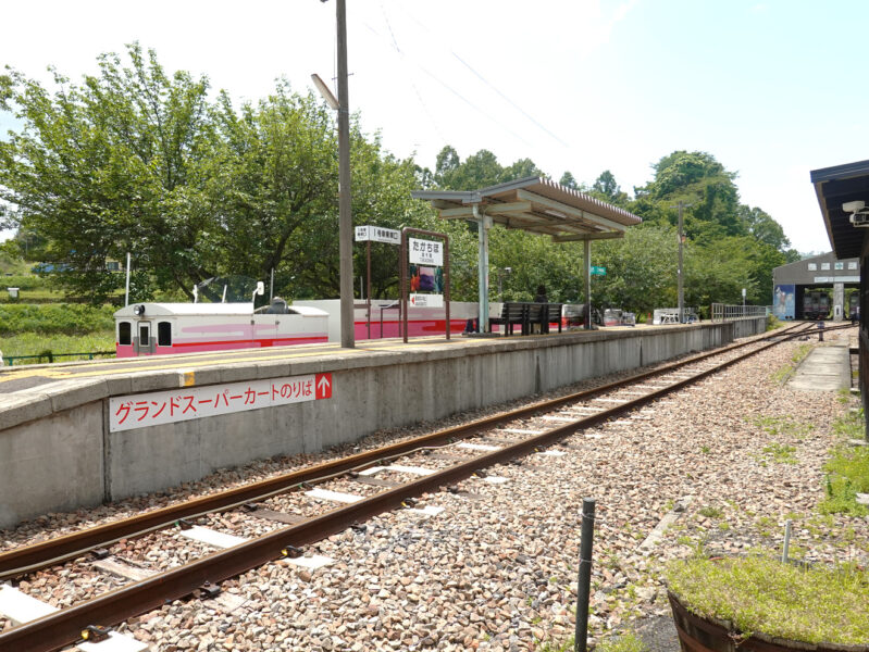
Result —
M210 93L206 77L166 73L153 51L134 43L125 58L100 57L80 83L55 72L46 87L7 70L0 110L24 125L0 140L0 225L18 229L0 251L7 268L16 256L53 263L51 287L95 304L122 291L124 275L109 273L107 263L127 252L136 301L189 298L209 277L268 279L272 269L275 293L287 299L339 294L335 116L310 92L280 80L269 97L234 105L227 92ZM476 300L476 226L438 220L410 191L545 175L530 159L501 165L481 150L462 161L450 146L434 171L423 168L384 151L378 135L361 131L358 115L351 158L353 222L447 231L455 300ZM570 172L560 177L644 220L623 240L593 246L593 264L607 267L593 281L594 302L636 312L675 304L682 202L686 303L736 303L742 288L750 303L769 303L772 267L798 254L769 214L740 202L736 173L688 151L653 168L633 198L609 171L589 186ZM554 301L584 301L581 244L500 228L491 239L489 276L495 286L501 272L501 298L531 299L542 284ZM394 298L398 251L372 249L373 296ZM355 248L355 269L364 273L362 247Z

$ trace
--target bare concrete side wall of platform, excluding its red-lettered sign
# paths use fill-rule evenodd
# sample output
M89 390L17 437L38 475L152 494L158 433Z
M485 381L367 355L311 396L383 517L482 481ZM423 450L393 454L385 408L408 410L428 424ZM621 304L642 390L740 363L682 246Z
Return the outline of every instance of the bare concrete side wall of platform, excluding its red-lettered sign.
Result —
M29 399L15 392L0 399L0 527L720 347L737 333L762 331L762 322L469 339L215 365L197 369L195 385L332 372L333 398L120 432L108 428L109 397L189 386L190 373L66 380L36 389Z

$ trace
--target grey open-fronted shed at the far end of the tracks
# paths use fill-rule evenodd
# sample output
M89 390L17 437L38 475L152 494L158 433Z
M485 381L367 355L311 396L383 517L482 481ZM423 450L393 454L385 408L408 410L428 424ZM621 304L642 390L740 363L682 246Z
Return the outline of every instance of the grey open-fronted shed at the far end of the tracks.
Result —
M860 262L857 258L840 260L824 253L772 271L772 313L779 319L817 318L809 314L808 297L824 292L830 298L830 316L848 317L848 299L860 287Z

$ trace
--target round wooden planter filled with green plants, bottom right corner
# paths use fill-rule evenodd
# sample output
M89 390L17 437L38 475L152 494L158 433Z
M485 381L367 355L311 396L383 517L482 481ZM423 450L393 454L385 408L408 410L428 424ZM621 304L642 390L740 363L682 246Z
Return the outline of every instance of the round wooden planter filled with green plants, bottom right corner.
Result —
M682 650L869 652L869 576L855 565L698 556L671 563L667 584Z

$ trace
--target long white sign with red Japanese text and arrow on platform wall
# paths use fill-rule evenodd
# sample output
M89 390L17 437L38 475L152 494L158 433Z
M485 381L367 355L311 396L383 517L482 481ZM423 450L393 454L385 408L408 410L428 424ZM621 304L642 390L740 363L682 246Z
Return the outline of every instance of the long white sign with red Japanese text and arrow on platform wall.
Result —
M332 374L309 374L113 397L109 399L109 430L119 432L331 398Z

